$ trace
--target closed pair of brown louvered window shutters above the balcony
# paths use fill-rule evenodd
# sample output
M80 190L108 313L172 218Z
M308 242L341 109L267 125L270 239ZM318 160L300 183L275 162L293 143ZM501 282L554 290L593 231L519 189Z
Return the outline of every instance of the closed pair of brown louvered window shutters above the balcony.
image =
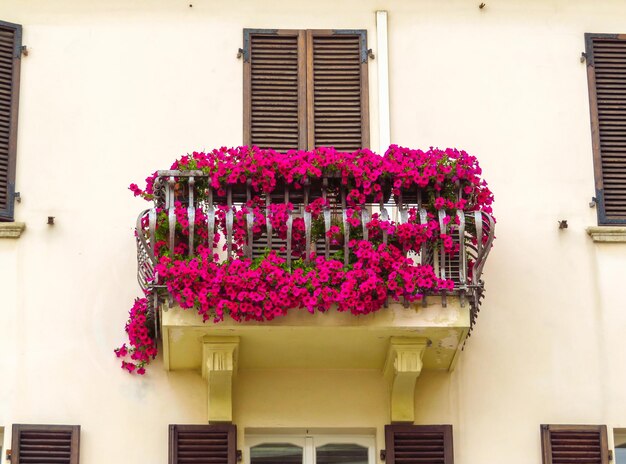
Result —
M244 30L244 144L369 146L364 30Z

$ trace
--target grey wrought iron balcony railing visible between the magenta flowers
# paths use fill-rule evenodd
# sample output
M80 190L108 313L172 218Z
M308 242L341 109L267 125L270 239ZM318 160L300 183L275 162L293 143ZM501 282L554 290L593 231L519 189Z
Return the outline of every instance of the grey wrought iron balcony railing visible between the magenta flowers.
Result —
M424 207L422 197L424 192L416 187L410 191L402 190L398 195L391 194L389 180L381 184L383 195L379 201L369 201L360 205L360 237L368 240L368 228L365 226L372 217L373 212L378 212L381 220L389 220L394 218L398 223L404 223L408 220L409 211L415 208L421 223L428 220L428 212ZM202 171L158 171L157 178L154 183L154 202L155 206L151 209L143 211L137 220L136 238L137 238L137 256L138 256L138 280L141 288L154 295L154 303L158 303L159 286L158 276L155 275L156 257L156 230L157 230L157 212L161 216L163 212L167 217L167 246L169 249L174 247L181 240L181 237L175 233L176 215L175 203L182 204L186 207L186 215L189 222L189 234L185 237L187 240L187 253L193 256L195 246L198 240L196 236L196 211L200 209L203 212L204 224L208 230L208 236L205 245L213 246L214 234L216 233L217 211L220 205L225 209L225 260L236 259L233 253L233 207L241 206L243 203L251 200L253 196L259 196L253 191L251 182L240 183L235 185L223 186L220 189L211 186L211 178ZM318 255L326 258L331 256L334 251L333 244L329 235L324 233L322 238L315 240L312 234L312 218L311 213L307 211L307 205L317 198L326 200L323 209L323 227L327 232L331 224L340 223L343 228L343 243L339 244L339 248L343 249L343 259L348 263L349 259L349 241L351 225L348 222L348 191L341 185L337 176L325 175L317 179L310 179L302 185L300 189L294 189L293 185L285 184L277 186L271 194L261 194L264 199L266 208L269 210L271 204L284 203L285 205L293 205L288 211L286 221L287 236L279 238L272 230L272 224L269 219L264 225L265 230L261 236L255 236L252 232L254 225L254 215L248 213L246 216L246 240L243 246L243 257L254 258L266 252L268 249L275 250L286 259L287 266L290 266L294 259L292 250L292 225L296 217L304 220L305 225L305 250L303 259L309 259L309 252L316 251ZM462 197L462 191L459 188L458 198ZM446 217L458 221L447 220ZM269 215L267 216L269 218ZM485 261L491 249L494 239L495 223L490 214L481 211L463 211L456 210L454 212L446 212L445 210L436 211L436 219L439 222L441 233L449 234L450 223L456 223L454 227L453 240L459 245L459 252L454 255L446 253L442 247L437 247L431 242L425 242L419 253L413 258L416 262L422 264L430 264L433 266L435 273L442 279L452 279L454 281L454 290L448 292L439 292L437 295L441 297L442 304L446 304L446 295L458 295L461 304L466 301L472 307L472 321L476 317L478 306L482 298L484 283L481 279ZM382 241L387 243L388 236L383 232ZM217 252L217 250L216 250ZM426 298L424 298L426 301Z

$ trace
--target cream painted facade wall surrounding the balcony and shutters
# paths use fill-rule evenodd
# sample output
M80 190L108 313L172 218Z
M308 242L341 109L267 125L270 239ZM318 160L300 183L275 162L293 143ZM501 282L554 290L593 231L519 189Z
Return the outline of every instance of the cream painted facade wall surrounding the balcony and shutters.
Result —
M199 370L167 372L160 354L138 378L113 355L140 292L144 204L127 186L186 152L241 144L243 28L367 29L377 55L379 10L391 141L469 151L496 196L477 326L452 372L417 379L415 423L452 424L457 464L539 463L542 423L606 424L612 443L626 428L626 232L621 243L586 232L597 219L580 55L585 32L626 33L626 2L479 3L0 1L29 50L16 205L26 230L0 239L3 449L13 423L80 424L83 463L164 463L168 424L206 423ZM377 73L374 59L374 149ZM239 449L261 429L341 429L374 436L376 456L385 447L380 369L240 366L232 400Z

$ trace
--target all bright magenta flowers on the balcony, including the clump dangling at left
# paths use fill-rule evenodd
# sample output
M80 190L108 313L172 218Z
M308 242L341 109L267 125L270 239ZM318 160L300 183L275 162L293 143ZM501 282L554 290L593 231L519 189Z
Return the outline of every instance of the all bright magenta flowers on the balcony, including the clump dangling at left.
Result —
M236 321L271 320L294 309L313 313L335 308L361 315L380 310L389 300L415 301L426 292L451 291L451 280L439 278L432 266L418 264L411 256L425 244L454 256L460 247L455 234L459 226L456 210L490 213L493 203L476 158L456 149L422 151L392 145L380 156L367 149L353 153L334 148L278 153L257 147L223 147L183 156L171 169L202 171L210 185L197 180L196 201L206 196L208 189L213 189L216 200L212 244L207 243L205 211L195 207L193 256L188 256L190 220L184 195L177 197L174 205L177 240L169 249L168 215L154 195L157 173L146 179L145 189L131 184L130 190L135 196L157 201L156 283L165 285L182 308L197 311L204 321L219 322L226 317ZM325 230L322 213L329 206L328 200L313 196L306 211L311 213L313 228L322 224L319 227L323 232L312 239L328 238L339 254L344 253L344 240L348 240L348 256L343 256L348 264L343 259L316 256L306 249L304 219L290 216L293 204L272 202L268 207L265 203L266 195L285 186L293 190L317 186L320 192L322 176L335 182L335 189L341 187L347 192L345 219L350 229L344 231L343 225L335 222ZM183 192L186 180L181 177L177 182ZM227 206L223 201L226 188L241 192L248 182L252 198ZM425 209L421 217L415 206L416 192ZM409 204L406 220L385 220L381 213L374 212L363 224L361 213L365 204L387 201L390 195ZM226 236L229 208L233 212L234 259L220 261L216 249ZM441 211L445 213L443 219ZM267 233L269 223L273 236L286 240L291 217L290 267L276 252L268 252L261 259L245 258L249 214L254 218L253 239ZM142 224L147 228L147 219ZM364 228L367 240L363 239ZM308 253L311 254L307 256ZM470 272L472 265L470 262ZM115 350L120 358L130 357L130 361L122 362L122 368L131 373L143 374L145 365L157 352L146 325L147 307L147 299L135 301L126 324L129 347L124 344Z

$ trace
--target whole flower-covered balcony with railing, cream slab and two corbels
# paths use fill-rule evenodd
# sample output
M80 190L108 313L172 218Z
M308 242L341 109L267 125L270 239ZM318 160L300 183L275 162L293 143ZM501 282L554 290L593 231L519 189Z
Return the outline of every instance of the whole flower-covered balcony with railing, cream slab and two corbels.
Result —
M348 155L317 155L297 179L280 168L218 178L189 159L151 179L138 280L166 369L207 378L210 420L229 420L237 368L324 368L379 369L392 418L411 421L415 379L452 370L476 321L494 220L484 183L464 174L469 155L357 153L343 168L319 159ZM416 181L394 164L405 156L436 168ZM359 163L361 178L345 167Z

